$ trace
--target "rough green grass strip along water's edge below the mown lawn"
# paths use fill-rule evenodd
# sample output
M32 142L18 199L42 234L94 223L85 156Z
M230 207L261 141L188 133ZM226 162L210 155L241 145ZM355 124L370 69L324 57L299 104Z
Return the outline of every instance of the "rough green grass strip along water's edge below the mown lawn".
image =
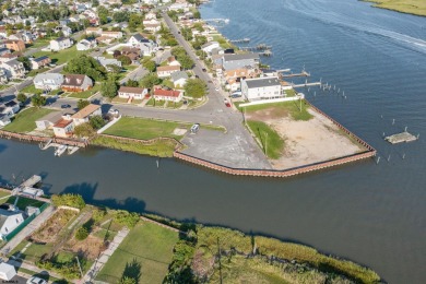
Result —
M138 141L121 141L114 138L98 135L91 140L93 145L105 146L141 155L171 157L177 142L173 140L158 140L150 144Z

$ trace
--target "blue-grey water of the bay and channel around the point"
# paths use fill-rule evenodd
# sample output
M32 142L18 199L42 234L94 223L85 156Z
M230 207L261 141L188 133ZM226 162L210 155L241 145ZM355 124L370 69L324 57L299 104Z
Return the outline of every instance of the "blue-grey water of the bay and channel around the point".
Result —
M155 158L111 150L57 158L0 140L0 181L43 174L51 193L275 236L368 265L389 283L426 283L426 17L356 0L216 0L201 12L230 19L220 28L229 38L272 45L263 61L273 68L305 66L310 80L344 91L346 99L304 92L376 147L380 163L258 179L174 159L157 169ZM421 139L383 141L405 126Z

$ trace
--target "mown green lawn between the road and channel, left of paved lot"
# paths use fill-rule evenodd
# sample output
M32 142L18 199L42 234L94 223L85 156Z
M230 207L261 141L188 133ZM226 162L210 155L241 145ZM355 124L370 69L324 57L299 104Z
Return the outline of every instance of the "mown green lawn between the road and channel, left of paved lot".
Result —
M175 121L162 121L145 118L123 117L117 123L108 128L104 133L117 137L150 140L159 137L181 139L174 134L176 128L188 129L189 125Z

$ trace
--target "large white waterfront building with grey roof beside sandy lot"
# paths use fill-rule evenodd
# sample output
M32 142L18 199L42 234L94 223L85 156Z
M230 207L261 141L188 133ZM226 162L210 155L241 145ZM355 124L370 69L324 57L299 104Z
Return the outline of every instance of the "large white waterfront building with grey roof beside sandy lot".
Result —
M277 76L246 79L241 81L241 93L250 102L282 97L281 82Z

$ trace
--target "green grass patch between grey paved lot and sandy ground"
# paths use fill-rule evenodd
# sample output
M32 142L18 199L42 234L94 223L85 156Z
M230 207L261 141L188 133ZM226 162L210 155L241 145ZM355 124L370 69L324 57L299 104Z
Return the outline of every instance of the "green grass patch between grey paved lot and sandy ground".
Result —
M258 138L265 155L269 158L280 158L284 150L284 140L279 133L262 121L248 120L247 125Z

